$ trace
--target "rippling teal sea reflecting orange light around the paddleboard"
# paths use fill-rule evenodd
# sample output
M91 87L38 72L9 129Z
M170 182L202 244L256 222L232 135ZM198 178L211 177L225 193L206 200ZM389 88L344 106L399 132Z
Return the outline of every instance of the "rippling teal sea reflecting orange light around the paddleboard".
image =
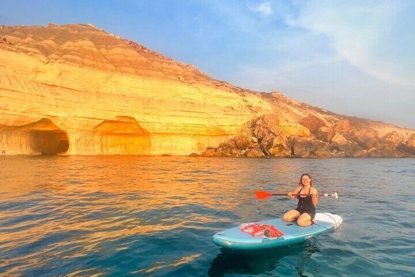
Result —
M301 173L343 225L260 252L216 232L281 217ZM1 276L414 276L415 159L1 156Z

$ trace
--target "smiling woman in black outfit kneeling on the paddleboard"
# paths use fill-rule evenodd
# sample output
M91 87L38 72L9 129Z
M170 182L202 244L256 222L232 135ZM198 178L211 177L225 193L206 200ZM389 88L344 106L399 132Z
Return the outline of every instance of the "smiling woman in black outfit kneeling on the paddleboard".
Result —
M297 196L299 203L296 209L290 210L284 214L284 221L292 222L297 220L300 226L309 226L313 223L316 216L316 205L318 201L318 192L313 187L313 180L308 173L301 175L299 186L295 191L288 192L290 199L294 199L292 194L311 194L309 196Z

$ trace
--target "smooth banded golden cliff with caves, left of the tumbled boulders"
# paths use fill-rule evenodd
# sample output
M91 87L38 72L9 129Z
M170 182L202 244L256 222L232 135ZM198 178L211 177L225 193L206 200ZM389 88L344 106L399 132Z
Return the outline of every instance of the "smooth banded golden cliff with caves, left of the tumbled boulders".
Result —
M6 154L184 155L272 111L261 97L91 25L1 26L0 41Z

